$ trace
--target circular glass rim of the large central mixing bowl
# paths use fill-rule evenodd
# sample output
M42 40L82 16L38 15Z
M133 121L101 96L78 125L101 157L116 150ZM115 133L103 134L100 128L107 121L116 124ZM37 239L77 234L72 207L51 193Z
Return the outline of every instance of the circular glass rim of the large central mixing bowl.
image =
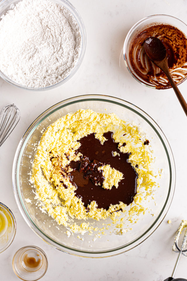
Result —
M123 245L123 246L117 247L115 249L110 249L110 250L105 250L105 251L85 251L85 250L75 249L75 248L71 248L69 246L62 245L59 242L57 242L56 240L49 237L47 234L45 234L39 228L39 226L37 226L37 224L35 224L33 222L32 218L30 217L29 213L27 212L27 209L25 208L25 205L22 201L22 197L21 197L21 193L20 193L19 177L18 177L20 159L22 157L22 152L25 148L25 145L27 144L27 140L30 138L30 136L34 132L35 128L37 128L37 126L39 124L41 124L41 122L44 119L49 117L54 112L58 111L58 109L61 109L61 108L66 107L70 104L82 102L82 101L102 101L102 102L114 103L114 104L117 104L117 105L121 105L122 107L126 107L127 109L130 109L131 111L133 111L136 114L138 114L139 116L141 116L145 121L147 121L147 123L153 128L153 130L157 133L157 136L160 138L161 143L162 143L162 145L165 149L165 152L166 152L166 155L167 155L167 160L168 160L168 163L169 163L170 179L169 179L169 190L168 190L168 194L167 194L167 199L165 201L165 204L164 204L162 210L160 211L160 214L155 219L153 224L146 231L144 231L143 234L141 234L138 238L134 239L133 241L131 241L127 245L125 245L125 246ZM133 107L134 107L134 109L133 109ZM138 111L140 111L141 113L139 113ZM143 116L142 114L144 114L145 116ZM158 130L160 130L160 133L162 134L162 137L160 136L160 133L157 131L157 129L153 126L153 124L148 119L150 119L150 121L154 124L154 126L156 126ZM162 138L165 138L165 141ZM167 145L167 147L166 147L166 145ZM69 98L69 99L65 99L65 100L63 100L61 102L58 102L58 103L54 104L53 106L49 107L43 113L41 113L32 122L32 124L28 127L28 129L25 131L24 135L22 136L22 138L20 140L20 143L18 144L18 148L16 150L16 153L15 153L15 157L14 157L14 161L13 161L12 180L13 180L14 196L15 196L15 200L16 200L16 203L18 205L18 208L20 210L20 213L22 214L24 220L27 222L29 227L41 239L43 239L44 241L46 241L48 244L55 247L56 249L59 249L61 251L73 254L75 256L100 258L100 257L115 256L117 254L126 252L126 251L134 248L135 246L139 245L140 243L142 243L144 240L146 240L155 231L155 229L160 225L160 223L164 219L164 217L167 214L167 211L169 209L169 206L171 205L172 198L173 198L173 195L174 195L174 189L175 189L175 174L176 174L176 172L175 172L174 157L173 157L170 145L168 143L168 140L167 140L166 136L164 135L164 133L162 132L161 128L157 125L157 123L145 111L143 111L142 109L140 109L139 107L137 107L136 105L134 105L130 102L127 102L127 101L124 101L120 98L116 98L116 97L112 97L112 96L107 96L107 95L80 95L80 96L72 97L72 98ZM155 228L153 228L153 227L155 227ZM133 245L136 242L138 242L138 243L136 245ZM128 247L130 245L131 245L131 247L129 249L125 249L126 247Z

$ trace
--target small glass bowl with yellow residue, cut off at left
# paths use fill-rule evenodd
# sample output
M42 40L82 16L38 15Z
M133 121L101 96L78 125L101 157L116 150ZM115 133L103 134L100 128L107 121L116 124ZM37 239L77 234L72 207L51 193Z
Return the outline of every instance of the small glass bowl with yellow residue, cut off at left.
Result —
M0 202L0 253L5 251L16 233L15 217L11 210Z

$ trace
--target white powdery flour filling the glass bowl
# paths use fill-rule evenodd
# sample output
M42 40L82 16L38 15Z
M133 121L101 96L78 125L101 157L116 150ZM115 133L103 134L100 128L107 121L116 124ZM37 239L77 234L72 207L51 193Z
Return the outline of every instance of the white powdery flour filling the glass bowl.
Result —
M0 20L0 70L27 87L54 85L77 64L82 37L67 8L23 0Z

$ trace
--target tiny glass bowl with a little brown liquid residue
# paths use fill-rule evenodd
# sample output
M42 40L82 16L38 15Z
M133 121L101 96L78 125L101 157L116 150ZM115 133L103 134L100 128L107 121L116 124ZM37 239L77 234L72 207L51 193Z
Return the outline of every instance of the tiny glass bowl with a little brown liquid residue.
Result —
M39 280L47 271L47 256L37 246L25 246L15 253L12 267L14 273L22 280Z

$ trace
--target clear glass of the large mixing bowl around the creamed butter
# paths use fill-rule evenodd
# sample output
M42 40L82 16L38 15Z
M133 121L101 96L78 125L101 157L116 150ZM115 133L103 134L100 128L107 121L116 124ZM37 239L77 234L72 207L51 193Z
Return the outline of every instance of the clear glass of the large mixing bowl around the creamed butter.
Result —
M136 224L131 225L132 230L125 235L110 234L110 230L101 239L92 240L87 233L84 241L77 239L77 234L69 238L65 234L66 228L57 223L47 214L36 208L35 194L30 186L30 172L32 160L42 130L60 116L78 109L92 109L96 112L115 113L121 119L134 121L151 139L155 152L155 167L163 169L160 179L160 188L157 189L155 200L146 202L152 209L152 216L146 212L140 215ZM32 230L48 244L59 250L84 257L106 257L128 251L144 241L162 222L171 204L175 186L175 165L169 143L159 126L148 114L135 105L115 97L104 95L83 95L59 102L43 112L29 126L20 140L13 162L13 189L15 199L22 216ZM29 199L29 200L28 200ZM156 202L156 205L155 205ZM146 207L145 206L145 207ZM110 219L109 219L110 220ZM45 222L45 224L44 224ZM96 221L97 227L102 228L103 221ZM54 224L54 225L53 225ZM51 225L51 227L49 227ZM115 226L112 225L113 228Z

